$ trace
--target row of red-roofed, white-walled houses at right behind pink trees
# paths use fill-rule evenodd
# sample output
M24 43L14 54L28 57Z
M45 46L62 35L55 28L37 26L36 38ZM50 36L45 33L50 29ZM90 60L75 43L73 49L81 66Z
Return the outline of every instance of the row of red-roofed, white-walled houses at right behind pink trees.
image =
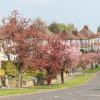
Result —
M63 32L65 34L66 42L77 45L83 52L100 50L100 32L93 33L87 25L85 25L79 32L72 33Z

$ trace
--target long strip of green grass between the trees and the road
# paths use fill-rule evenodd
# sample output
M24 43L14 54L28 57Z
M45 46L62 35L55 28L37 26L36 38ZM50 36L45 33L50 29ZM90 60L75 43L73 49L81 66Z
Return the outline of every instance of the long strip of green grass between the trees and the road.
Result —
M12 89L12 90L0 90L0 96L7 96L7 95L15 95L15 94L26 94L26 93L36 93L42 91L49 91L49 90L56 90L61 88L70 88L74 86L78 86L81 84L86 83L89 79L91 79L94 74L100 71L100 67L96 69L89 69L85 71L85 74L74 75L73 78L67 80L64 84L55 84L50 86L37 86L33 88L25 88L25 89Z

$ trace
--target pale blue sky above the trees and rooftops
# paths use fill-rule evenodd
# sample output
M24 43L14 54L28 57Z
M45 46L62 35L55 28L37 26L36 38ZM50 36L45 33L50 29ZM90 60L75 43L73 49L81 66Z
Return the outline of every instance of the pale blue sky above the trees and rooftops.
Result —
M27 18L41 17L48 24L72 23L79 30L88 25L96 32L100 25L100 0L0 0L0 19L13 10Z

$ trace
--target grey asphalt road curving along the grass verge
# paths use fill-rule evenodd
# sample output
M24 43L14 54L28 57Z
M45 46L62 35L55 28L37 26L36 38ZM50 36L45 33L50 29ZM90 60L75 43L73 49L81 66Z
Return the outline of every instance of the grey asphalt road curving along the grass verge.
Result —
M1 97L0 100L100 100L100 72L83 86L46 93Z

